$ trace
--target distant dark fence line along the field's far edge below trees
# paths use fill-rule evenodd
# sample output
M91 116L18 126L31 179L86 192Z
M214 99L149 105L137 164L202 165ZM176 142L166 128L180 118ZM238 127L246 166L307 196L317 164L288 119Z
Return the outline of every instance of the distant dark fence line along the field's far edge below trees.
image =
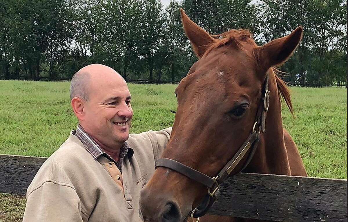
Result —
M10 79L15 80L34 80L34 81L70 81L69 78L56 78L56 79L50 79L49 77L43 76L39 78L33 78L29 76L18 76L18 77L12 77ZM5 76L0 76L0 80L6 80ZM147 80L147 79L127 79L126 80L129 83L135 83L135 84L178 84L179 81L164 81L164 80ZM347 82L341 82L339 84L308 84L303 85L300 83L294 83L294 82L287 82L289 86L300 86L300 87L339 87L339 88L347 88Z

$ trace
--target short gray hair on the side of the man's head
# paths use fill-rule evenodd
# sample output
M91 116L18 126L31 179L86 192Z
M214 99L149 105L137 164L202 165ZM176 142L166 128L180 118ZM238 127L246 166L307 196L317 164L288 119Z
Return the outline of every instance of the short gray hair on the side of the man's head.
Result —
M74 97L81 98L84 101L88 101L88 86L90 81L89 73L77 72L71 79L70 84L70 100Z

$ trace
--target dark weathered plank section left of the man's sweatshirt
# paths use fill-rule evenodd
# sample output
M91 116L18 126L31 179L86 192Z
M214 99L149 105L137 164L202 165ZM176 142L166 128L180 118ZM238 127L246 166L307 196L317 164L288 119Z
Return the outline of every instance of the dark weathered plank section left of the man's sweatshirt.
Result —
M0 154L0 192L25 195L47 158Z

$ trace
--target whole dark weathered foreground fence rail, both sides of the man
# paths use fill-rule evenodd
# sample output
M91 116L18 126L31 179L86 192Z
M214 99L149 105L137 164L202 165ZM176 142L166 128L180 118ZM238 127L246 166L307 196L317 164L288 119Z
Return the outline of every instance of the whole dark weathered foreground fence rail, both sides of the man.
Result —
M46 160L0 154L0 192L25 195ZM209 214L273 221L347 221L347 180L239 173Z

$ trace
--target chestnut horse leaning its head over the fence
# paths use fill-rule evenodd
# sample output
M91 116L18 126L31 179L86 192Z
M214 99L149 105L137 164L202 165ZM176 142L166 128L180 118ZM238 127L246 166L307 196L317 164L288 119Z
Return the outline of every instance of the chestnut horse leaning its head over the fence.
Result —
M302 27L259 47L246 30L210 35L182 9L181 19L199 60L175 90L178 107L162 157L209 177L216 176L250 132L255 131L255 117L267 80L270 94L265 131L259 134L254 156L243 172L307 176L298 148L283 128L281 96L291 113L292 103L286 84L274 68L291 56L302 38ZM242 169L249 153L250 150L231 175ZM141 191L144 221L183 221L206 194L207 186L160 165ZM200 217L200 222L203 221L254 220L205 215Z

